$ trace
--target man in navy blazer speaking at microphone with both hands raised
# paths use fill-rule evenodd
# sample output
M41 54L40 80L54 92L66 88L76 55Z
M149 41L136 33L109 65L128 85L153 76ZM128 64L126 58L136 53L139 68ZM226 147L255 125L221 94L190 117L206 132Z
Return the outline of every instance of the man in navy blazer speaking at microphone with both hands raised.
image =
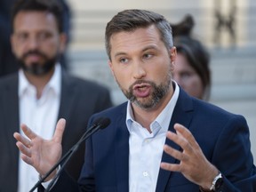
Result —
M255 191L244 117L196 100L172 81L177 52L168 21L156 12L125 10L108 22L105 35L108 65L128 102L92 116L89 126L99 117L111 124L86 141L78 184L64 172L51 191ZM21 128L30 139L14 133L23 160L44 175L60 158L65 120L51 147ZM56 172L45 181L53 182Z

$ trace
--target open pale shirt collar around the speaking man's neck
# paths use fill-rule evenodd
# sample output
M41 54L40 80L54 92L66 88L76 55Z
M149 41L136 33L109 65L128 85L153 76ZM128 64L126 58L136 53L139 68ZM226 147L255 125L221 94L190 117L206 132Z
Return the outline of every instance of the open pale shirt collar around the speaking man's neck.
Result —
M172 118L172 113L180 94L180 87L178 86L178 84L175 81L172 81L172 85L174 88L172 99L169 100L163 111L156 117L156 120L150 124L150 129L152 132L154 132L154 130L152 130L152 124L159 124L160 127L163 128L164 132L167 132L168 130ZM134 120L134 116L132 113L131 101L128 100L126 109L126 125L129 132L131 132L132 122L136 121Z

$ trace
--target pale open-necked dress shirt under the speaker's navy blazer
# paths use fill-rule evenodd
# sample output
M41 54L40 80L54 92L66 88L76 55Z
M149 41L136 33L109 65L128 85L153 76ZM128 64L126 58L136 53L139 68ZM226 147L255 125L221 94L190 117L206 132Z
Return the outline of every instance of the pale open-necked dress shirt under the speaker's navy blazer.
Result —
M175 84L172 99L150 124L151 133L134 120L131 102L128 101L126 125L129 138L129 191L155 192L156 181L163 155L166 132L180 88Z

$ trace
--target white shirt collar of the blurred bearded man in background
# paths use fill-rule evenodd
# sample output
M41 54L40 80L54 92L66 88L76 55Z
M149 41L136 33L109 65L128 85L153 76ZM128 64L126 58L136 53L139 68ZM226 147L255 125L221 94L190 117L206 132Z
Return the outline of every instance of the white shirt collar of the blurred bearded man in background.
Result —
M60 87L61 87L60 84L61 84L61 67L60 67L60 63L57 63L55 65L54 73L50 81L44 87L44 91L48 89L52 89L57 95L60 95ZM25 76L24 71L20 69L19 70L19 97L21 97L29 89L30 90L33 89L36 92L35 86L28 82L28 79Z

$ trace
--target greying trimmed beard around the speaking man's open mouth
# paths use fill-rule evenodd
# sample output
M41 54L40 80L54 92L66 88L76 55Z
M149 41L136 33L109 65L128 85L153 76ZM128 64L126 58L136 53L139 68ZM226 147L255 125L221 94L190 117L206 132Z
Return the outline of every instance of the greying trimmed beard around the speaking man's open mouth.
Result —
M150 81L138 80L135 83L133 83L128 90L122 89L122 87L118 82L117 84L121 88L122 92L124 92L124 95L128 100L131 100L132 103L134 103L140 108L150 109L150 108L154 108L156 104L159 103L160 100L163 99L164 96L167 94L167 92L170 90L170 86L172 85L171 78L172 78L171 73L168 73L168 76L166 76L166 80L159 85L156 85L154 82L150 82ZM141 100L138 100L138 98L133 94L133 89L132 89L132 87L135 84L150 84L153 89L153 92L148 96L148 98L143 98Z

